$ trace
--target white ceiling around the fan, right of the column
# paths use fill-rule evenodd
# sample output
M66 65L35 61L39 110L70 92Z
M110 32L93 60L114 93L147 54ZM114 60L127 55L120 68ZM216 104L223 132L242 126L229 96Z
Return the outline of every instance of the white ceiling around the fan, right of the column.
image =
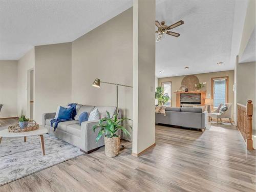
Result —
M236 3L240 4L236 14L241 15L235 15ZM230 61L231 50L233 47L238 50L237 39L241 38L242 30L239 33L233 30L243 29L244 20L241 22L241 19L244 19L246 6L241 4L245 3L240 0L158 0L156 19L159 22L165 20L171 25L182 19L184 24L172 30L181 34L178 38L165 35L156 43L156 76L234 69L234 62ZM235 40L236 43L232 42ZM223 65L218 66L220 61ZM186 66L188 70L184 69Z

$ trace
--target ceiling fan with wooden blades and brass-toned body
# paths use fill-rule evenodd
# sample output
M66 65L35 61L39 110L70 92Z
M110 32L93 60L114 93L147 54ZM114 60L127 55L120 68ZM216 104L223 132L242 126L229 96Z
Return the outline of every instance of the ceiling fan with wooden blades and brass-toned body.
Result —
M183 20L180 20L179 22L177 22L173 25L167 26L167 25L165 25L164 21L159 23L158 20L156 20L156 26L158 27L158 31L156 31L156 33L159 33L159 35L156 39L156 42L159 42L165 33L167 35L172 35L175 37L180 36L180 33L175 33L175 32L169 31L169 30L174 29L182 24L184 24L184 22L183 22Z

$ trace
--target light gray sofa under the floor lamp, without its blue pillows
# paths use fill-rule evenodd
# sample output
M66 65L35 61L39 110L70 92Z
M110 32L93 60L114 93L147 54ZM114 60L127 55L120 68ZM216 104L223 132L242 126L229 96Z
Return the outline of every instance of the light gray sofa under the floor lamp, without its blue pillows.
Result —
M99 147L104 145L104 137L101 137L96 143L95 139L98 135L99 128L93 131L92 127L98 124L96 121L85 121L79 125L78 117L82 112L88 112L90 114L94 108L97 108L100 114L100 118L106 116L106 111L110 112L110 115L116 112L115 106L91 106L91 105L77 105L77 115L74 120L58 123L57 129L53 132L50 121L55 117L56 113L45 113L42 115L42 124L48 129L48 133L62 139L72 145L80 148L80 151L84 153L91 153L98 150ZM121 117L121 110L118 114Z

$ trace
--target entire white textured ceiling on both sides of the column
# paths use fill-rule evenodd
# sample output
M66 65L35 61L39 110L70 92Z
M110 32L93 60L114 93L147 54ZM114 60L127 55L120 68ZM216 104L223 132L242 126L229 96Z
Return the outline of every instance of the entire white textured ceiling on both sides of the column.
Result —
M159 22L184 20L173 30L180 37L166 35L156 44L156 76L234 69L230 55L239 48L246 2L156 0ZM133 0L0 0L0 60L17 60L36 45L73 41L132 5Z

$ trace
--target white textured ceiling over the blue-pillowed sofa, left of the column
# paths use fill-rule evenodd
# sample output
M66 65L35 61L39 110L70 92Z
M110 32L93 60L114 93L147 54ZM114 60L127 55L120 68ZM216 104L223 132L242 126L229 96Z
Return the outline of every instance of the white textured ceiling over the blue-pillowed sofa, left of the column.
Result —
M133 0L0 0L0 60L36 45L70 42L132 7Z

